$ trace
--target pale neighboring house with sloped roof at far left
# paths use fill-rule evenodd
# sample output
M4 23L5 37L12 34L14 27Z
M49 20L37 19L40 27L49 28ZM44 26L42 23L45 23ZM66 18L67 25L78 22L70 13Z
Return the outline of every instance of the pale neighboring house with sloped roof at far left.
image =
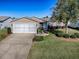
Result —
M12 21L11 17L0 16L0 29L11 27L10 22Z

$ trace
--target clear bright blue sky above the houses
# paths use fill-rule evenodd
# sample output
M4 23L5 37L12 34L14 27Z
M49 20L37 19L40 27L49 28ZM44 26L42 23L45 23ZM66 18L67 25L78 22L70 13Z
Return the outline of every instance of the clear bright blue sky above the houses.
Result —
M0 0L0 16L51 16L57 0Z

